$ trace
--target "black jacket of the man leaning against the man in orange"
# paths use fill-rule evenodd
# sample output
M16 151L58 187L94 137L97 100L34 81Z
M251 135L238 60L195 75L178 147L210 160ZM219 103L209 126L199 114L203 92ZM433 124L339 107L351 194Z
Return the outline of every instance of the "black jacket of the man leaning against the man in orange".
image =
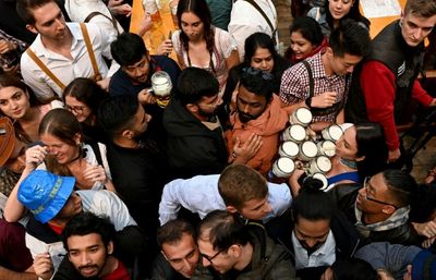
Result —
M227 147L222 130L210 131L175 97L164 112L167 153L175 178L219 174L227 165Z

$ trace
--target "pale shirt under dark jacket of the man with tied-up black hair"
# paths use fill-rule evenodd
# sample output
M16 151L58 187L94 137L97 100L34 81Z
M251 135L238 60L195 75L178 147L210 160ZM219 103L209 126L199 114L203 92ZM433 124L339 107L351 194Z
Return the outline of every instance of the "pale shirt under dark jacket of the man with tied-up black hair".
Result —
M300 244L294 231L292 231L292 244L295 254L295 269L331 266L336 260L336 241L331 230L328 232L326 242L311 256L307 256L307 251Z

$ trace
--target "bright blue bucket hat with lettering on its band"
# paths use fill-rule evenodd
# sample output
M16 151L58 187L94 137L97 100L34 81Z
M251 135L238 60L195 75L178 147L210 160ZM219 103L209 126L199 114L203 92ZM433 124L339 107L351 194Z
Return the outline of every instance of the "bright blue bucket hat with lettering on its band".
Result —
M70 198L74 176L60 176L45 170L35 170L21 183L19 200L46 223L55 218Z

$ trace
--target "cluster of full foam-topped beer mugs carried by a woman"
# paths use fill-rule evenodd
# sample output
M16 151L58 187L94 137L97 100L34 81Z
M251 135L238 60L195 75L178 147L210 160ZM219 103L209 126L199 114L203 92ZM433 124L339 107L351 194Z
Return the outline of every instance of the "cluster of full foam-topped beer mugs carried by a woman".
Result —
M312 113L307 108L299 108L290 115L291 125L281 134L280 157L274 162L271 172L278 178L289 178L299 165L307 175L319 179L326 186L325 174L331 169L330 158L336 153L336 141L343 131L339 125L331 124L320 135L311 136L307 133L311 121Z

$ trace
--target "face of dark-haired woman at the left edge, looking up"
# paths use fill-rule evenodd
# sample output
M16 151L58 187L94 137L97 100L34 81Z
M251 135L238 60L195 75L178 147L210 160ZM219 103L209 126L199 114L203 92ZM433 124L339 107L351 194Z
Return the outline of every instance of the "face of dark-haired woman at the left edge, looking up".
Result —
M11 119L23 118L31 108L28 94L14 86L0 88L0 110Z

